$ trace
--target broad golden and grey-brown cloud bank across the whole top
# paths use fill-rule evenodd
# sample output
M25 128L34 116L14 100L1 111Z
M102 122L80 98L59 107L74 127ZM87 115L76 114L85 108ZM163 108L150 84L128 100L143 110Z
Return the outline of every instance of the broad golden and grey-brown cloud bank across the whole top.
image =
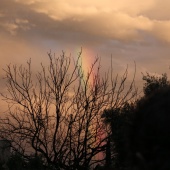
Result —
M115 3L115 8L112 9L108 4L104 6L101 3L97 6L97 1L94 2L96 7L87 6L84 2L86 6L83 9L81 3L74 0L73 3L76 4L74 9L74 5L70 5L68 1L48 2L1 0L1 32L28 39L44 37L68 43L100 44L110 40L143 41L145 37L141 32L144 31L161 41L170 42L167 31L170 21L150 18L149 11L155 14L160 0L141 3L141 7L135 5L135 10L132 10L129 4L123 3ZM167 0L164 2L164 6L169 4ZM54 9L53 3L56 3ZM108 3L111 5L113 2L108 0ZM105 10L101 8L102 4Z

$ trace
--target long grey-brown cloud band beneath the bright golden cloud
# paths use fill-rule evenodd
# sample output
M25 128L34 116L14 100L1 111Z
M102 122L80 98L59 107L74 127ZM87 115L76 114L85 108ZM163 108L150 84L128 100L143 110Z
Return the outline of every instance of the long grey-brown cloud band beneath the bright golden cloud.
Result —
M34 8L33 5L2 0L1 31L23 38L46 37L69 43L101 43L108 39L135 41L139 38L135 29L145 29L139 24L136 25L135 20L125 14L110 13L109 16L101 12L92 16L73 15L57 20L48 13L37 12ZM146 21L140 17L136 18L138 19L144 23Z

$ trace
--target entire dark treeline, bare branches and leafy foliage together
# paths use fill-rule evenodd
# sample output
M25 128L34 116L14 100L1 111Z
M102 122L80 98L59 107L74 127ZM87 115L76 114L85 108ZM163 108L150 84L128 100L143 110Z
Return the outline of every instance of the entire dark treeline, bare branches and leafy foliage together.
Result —
M143 74L138 97L135 73L100 75L98 59L82 69L64 53L33 76L27 66L7 66L9 110L0 118L0 138L10 141L9 170L169 169L170 82Z

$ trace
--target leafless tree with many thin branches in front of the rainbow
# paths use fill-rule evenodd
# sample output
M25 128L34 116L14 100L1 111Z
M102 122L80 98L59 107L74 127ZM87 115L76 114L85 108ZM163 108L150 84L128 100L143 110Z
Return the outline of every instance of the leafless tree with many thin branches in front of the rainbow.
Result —
M136 96L134 78L125 88L128 71L121 80L111 67L104 77L97 58L85 73L81 53L77 60L48 54L49 65L32 73L27 66L5 69L9 104L0 119L0 137L11 141L14 151L28 156L41 154L56 169L88 169L104 161L107 127L101 114Z

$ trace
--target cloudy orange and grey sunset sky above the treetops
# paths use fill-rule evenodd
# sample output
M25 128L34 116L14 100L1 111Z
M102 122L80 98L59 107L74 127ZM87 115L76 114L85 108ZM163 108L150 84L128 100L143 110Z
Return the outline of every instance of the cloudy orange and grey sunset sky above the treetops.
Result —
M111 56L116 73L128 66L142 86L142 74L170 70L169 0L0 0L0 84L7 64L33 70L47 52L72 56L82 48L87 61L101 58L103 69ZM90 62L87 62L90 66Z

